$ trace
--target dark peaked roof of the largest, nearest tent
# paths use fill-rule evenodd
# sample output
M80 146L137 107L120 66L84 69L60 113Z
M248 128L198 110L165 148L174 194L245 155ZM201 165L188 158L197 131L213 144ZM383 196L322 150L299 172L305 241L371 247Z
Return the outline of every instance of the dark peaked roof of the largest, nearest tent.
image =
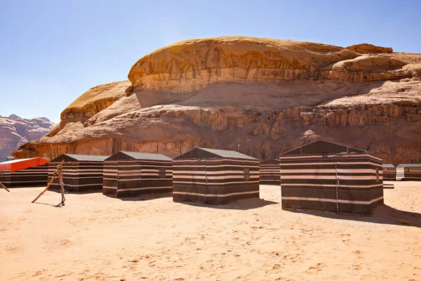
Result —
M352 148L347 145L341 145L339 143L331 143L330 141L317 140L312 143L307 143L293 150L284 152L282 155L312 155L312 154L325 154L325 153L367 153L367 150L361 150L359 148Z

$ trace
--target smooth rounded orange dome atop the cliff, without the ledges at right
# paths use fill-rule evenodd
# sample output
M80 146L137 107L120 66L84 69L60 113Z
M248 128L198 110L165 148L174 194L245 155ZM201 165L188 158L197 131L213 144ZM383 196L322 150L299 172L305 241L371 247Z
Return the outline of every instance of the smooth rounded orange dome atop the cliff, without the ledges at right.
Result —
M199 91L224 81L273 81L313 77L321 67L356 58L345 48L253 37L194 39L160 48L128 73L138 89Z

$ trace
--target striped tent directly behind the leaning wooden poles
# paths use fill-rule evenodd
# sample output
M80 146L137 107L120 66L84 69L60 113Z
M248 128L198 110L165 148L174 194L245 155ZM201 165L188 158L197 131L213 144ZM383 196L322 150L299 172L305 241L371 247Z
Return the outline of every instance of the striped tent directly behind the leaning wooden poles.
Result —
M48 181L51 180L57 165L65 160L62 166L63 185L66 191L100 191L104 160L108 156L63 154L48 163ZM58 180L51 184L52 189L60 189Z

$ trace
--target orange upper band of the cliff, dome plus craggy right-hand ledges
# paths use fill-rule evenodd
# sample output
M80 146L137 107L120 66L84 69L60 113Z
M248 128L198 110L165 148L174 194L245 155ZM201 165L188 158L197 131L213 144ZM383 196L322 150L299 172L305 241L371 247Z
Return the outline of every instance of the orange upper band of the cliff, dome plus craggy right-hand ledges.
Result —
M358 58L361 53L392 53L392 48L370 44L341 48L251 37L195 39L145 55L133 65L128 79L135 89L191 93L224 81L382 81L413 75L395 71L406 65L405 61L367 55Z

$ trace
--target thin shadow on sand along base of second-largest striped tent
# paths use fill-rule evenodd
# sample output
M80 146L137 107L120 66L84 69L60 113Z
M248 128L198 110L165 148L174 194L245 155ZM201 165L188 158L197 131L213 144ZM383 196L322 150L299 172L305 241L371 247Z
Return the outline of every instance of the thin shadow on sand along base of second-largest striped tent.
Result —
M228 210L249 210L258 209L267 205L279 204L279 202L263 200L260 198L250 198L229 202L225 205L204 204L201 202L180 202L194 207L210 208L210 209L228 209Z

